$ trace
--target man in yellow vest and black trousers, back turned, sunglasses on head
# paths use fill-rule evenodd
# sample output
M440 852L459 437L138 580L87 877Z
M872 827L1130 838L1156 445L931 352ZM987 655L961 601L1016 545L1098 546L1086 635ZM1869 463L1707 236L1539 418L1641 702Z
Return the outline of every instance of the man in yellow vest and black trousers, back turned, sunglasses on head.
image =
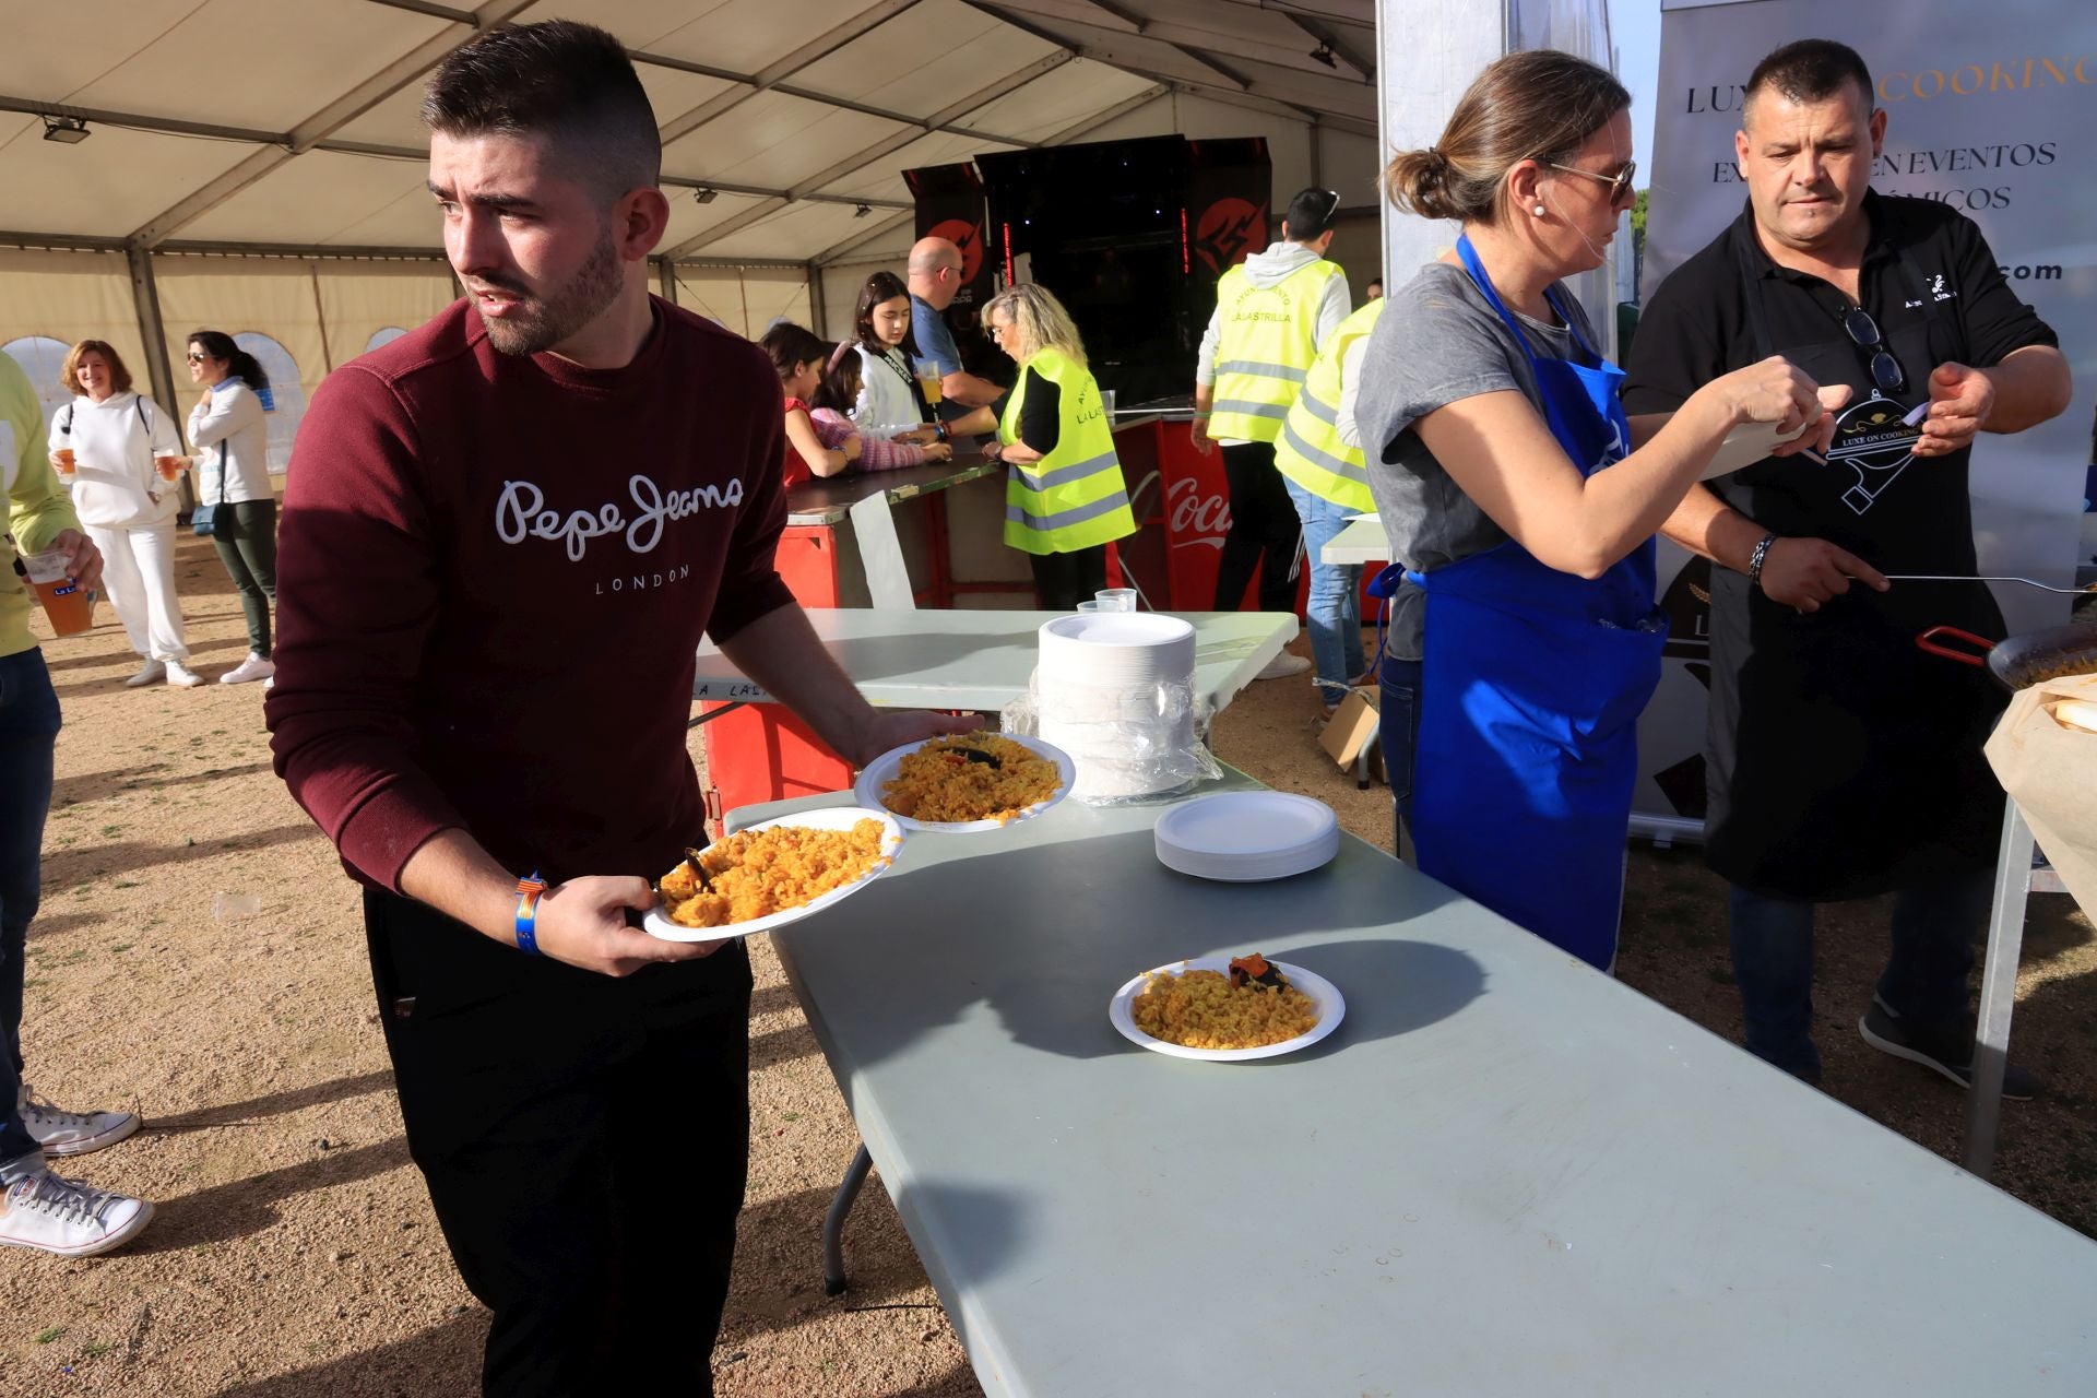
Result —
M1281 241L1216 281L1216 312L1202 335L1193 373L1193 430L1204 457L1223 442L1231 528L1216 562L1216 610L1235 612L1254 572L1260 610L1296 610L1296 507L1275 472L1275 438L1319 346L1346 319L1346 275L1325 260L1340 195L1306 189L1290 199ZM1300 675L1311 664L1283 654L1262 679Z

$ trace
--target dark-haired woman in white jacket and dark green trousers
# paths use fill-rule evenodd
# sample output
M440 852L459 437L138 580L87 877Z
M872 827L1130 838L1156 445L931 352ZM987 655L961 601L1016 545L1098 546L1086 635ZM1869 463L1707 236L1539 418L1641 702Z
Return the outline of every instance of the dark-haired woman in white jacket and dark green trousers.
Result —
M254 354L214 329L191 331L189 377L203 398L189 409L197 451L197 503L212 509L212 545L241 593L247 658L218 677L222 685L268 679L268 610L277 602L277 490L268 480L268 423L262 398L268 375Z

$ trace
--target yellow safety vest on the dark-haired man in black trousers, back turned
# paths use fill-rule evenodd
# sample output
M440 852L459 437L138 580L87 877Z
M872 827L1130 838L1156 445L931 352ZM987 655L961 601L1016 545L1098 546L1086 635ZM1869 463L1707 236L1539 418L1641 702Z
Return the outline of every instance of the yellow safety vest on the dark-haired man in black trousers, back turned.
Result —
M1216 402L1208 434L1218 440L1273 442L1281 419L1317 358L1317 312L1325 283L1340 277L1323 258L1271 287L1252 285L1244 266L1216 283L1223 331L1216 346Z

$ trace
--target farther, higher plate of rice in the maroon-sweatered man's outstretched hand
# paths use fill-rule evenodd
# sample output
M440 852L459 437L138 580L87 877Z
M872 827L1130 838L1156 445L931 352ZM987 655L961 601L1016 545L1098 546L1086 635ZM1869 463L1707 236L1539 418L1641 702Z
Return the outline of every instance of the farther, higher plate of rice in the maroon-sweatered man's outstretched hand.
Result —
M889 748L860 771L851 794L904 830L963 834L1032 820L1069 794L1076 763L1019 734L954 734Z

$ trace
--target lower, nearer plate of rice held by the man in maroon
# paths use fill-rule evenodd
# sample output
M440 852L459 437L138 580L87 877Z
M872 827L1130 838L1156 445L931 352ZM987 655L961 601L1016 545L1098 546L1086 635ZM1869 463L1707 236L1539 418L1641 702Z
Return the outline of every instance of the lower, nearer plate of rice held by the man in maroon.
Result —
M665 941L717 941L786 926L843 901L895 864L893 815L860 807L797 811L738 830L656 880L642 929Z

